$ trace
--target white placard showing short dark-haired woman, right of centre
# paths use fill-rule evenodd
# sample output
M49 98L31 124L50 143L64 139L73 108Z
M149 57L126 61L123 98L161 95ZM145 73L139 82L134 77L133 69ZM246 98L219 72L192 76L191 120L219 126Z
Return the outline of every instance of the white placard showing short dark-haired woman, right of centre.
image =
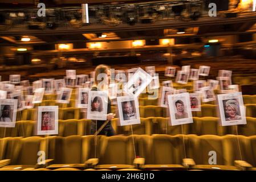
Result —
M169 125L184 125L193 123L189 93L180 93L168 96L170 109Z

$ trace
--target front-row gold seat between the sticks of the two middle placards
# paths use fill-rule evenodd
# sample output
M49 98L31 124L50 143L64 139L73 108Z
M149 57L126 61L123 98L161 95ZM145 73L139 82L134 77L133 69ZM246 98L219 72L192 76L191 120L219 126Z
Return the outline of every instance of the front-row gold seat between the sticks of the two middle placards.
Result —
M142 169L185 169L181 165L185 154L180 136L141 135L140 138L139 156L145 159L145 164L141 166Z

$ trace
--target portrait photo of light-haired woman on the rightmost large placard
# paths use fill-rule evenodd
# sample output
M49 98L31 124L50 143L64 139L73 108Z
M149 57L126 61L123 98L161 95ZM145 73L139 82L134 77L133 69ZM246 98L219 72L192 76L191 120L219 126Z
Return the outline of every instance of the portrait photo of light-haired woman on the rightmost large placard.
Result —
M239 115L239 105L236 100L227 100L224 106L226 113L226 121L242 119L241 115Z

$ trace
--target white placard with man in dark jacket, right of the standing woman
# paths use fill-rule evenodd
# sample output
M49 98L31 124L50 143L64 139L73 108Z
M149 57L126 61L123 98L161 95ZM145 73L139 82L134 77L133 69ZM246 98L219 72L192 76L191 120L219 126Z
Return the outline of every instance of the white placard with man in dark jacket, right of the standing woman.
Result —
M140 124L139 102L137 97L117 97L120 126Z

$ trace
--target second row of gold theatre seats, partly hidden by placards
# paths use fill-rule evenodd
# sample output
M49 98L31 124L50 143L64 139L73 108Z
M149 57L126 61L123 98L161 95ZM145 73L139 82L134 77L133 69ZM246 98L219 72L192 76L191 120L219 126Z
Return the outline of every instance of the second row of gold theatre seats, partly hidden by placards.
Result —
M152 134L196 134L196 135L256 135L256 118L246 117L246 125L220 126L220 119L216 117L193 117L193 123L178 126L169 126L169 118L148 117L140 118L138 125L118 126L118 118L111 121L116 135L152 135ZM36 131L36 121L18 121L13 128L0 128L0 138L5 137L32 137ZM132 127L132 128L131 128ZM133 131L133 133L132 133ZM59 120L58 136L90 135L90 119Z

